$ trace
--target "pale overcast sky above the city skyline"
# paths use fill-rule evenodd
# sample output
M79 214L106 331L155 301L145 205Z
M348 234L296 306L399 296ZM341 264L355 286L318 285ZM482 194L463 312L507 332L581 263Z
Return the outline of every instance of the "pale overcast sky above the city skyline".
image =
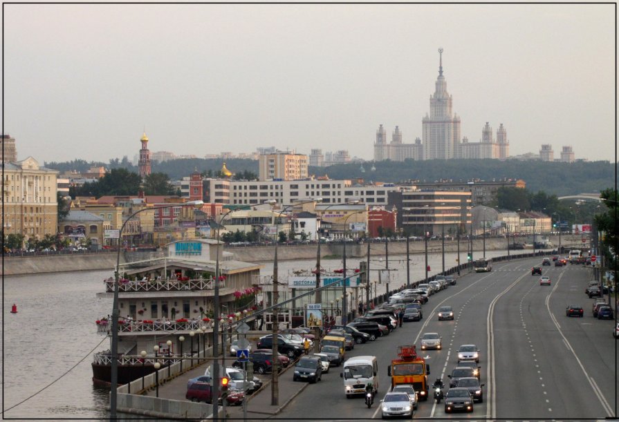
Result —
M310 153L403 142L438 76L461 134L615 161L616 10L560 5L3 5L3 131L19 160Z

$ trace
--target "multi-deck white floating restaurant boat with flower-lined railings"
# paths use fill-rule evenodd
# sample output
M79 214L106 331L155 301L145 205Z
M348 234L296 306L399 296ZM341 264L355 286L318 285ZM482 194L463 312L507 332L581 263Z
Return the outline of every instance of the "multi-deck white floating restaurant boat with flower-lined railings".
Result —
M262 265L234 260L223 242L178 240L167 244L167 256L121 266L118 282L118 383L154 372L174 358L210 354L214 289L219 288L220 319L236 320L257 309ZM219 258L219 274L216 263ZM115 279L103 280L100 298L113 298ZM111 338L111 318L95 321L98 332ZM183 341L184 340L184 341ZM145 354L142 351L146 352ZM109 385L110 349L95 353L93 383Z

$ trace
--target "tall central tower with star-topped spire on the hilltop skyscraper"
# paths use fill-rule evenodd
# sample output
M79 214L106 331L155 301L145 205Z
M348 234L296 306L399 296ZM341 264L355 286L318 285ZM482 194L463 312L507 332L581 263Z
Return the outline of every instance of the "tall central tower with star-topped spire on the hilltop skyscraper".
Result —
M430 95L430 114L422 119L424 160L454 158L460 142L460 117L452 112L452 96L447 93L443 76L443 48L438 53L438 78L434 95Z

